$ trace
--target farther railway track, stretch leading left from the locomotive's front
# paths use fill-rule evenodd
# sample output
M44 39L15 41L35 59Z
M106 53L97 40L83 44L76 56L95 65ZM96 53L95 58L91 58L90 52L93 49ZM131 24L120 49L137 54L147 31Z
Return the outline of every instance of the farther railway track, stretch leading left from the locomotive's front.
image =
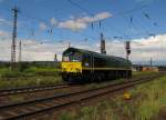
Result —
M24 87L24 88L15 88L15 89L3 89L0 90L0 97L4 96L14 96L21 93L32 93L39 91L54 90L54 89L63 89L70 87L66 83L61 83L56 86L40 86L40 87Z

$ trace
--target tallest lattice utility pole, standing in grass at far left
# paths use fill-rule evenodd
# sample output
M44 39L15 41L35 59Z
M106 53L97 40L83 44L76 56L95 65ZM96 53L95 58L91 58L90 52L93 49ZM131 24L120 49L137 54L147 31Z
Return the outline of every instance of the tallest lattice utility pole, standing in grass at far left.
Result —
M12 32L12 44L11 44L11 70L15 69L15 39L17 39L17 20L18 20L18 8L14 7L13 11L13 32Z

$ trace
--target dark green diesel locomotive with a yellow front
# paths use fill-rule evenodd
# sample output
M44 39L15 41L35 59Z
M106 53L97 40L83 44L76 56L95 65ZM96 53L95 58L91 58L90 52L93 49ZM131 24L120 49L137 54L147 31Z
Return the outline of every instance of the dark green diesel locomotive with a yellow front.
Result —
M77 48L63 52L61 69L64 81L76 83L132 77L129 60Z

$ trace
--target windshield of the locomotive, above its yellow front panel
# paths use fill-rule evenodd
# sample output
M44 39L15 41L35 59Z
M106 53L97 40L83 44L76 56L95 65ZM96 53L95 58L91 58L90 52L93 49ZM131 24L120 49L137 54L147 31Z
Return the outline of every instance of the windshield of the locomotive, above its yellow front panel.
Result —
M79 62L82 61L82 56L79 52L68 52L63 54L62 60L68 62Z

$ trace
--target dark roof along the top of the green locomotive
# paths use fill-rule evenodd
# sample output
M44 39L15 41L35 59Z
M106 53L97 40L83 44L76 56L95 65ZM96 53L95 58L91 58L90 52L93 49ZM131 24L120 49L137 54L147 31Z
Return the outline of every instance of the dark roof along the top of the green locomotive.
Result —
M124 58L121 58L121 57L115 57L115 56L107 56L107 54L103 54L103 53L98 53L98 52L94 52L94 51L89 51L89 50L84 50L84 49L77 49L77 48L68 48L63 53L68 53L70 51L77 51L77 52L81 52L83 54L93 54L93 56L97 56L97 57L102 57L102 58L114 58L116 60L126 60Z

